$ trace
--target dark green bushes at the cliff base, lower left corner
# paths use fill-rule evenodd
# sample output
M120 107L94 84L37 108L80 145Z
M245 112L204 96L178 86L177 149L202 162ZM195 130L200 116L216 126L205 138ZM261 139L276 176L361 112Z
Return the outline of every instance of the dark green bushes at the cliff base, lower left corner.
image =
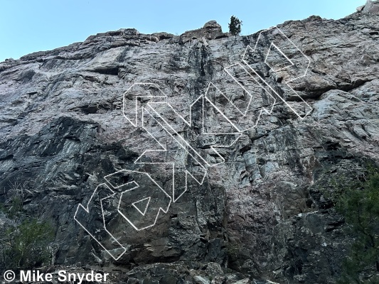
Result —
M26 218L21 194L0 204L0 212L10 223L0 236L0 270L18 271L48 263L53 226L36 218Z

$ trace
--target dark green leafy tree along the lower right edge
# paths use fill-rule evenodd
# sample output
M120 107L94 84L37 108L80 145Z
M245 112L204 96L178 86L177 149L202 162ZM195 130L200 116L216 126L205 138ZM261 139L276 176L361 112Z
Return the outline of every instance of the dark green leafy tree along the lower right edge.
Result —
M351 182L336 197L336 210L354 239L337 283L379 283L379 169L368 165L363 179Z

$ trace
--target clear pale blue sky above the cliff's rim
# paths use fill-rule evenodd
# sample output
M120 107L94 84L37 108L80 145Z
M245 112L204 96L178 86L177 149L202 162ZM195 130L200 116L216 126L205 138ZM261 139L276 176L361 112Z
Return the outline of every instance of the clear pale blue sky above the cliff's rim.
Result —
M247 35L311 15L343 18L363 4L365 0L0 0L0 62L119 28L181 34L216 20L226 32L235 15Z

